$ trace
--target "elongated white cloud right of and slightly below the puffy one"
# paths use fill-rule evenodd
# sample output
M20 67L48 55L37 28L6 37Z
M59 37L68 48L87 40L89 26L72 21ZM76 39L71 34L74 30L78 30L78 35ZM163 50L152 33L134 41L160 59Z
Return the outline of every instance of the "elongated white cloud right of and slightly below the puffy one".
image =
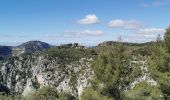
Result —
M108 24L111 28L123 28L123 29L131 29L136 30L142 27L140 23L134 20L125 21L121 19L112 20Z

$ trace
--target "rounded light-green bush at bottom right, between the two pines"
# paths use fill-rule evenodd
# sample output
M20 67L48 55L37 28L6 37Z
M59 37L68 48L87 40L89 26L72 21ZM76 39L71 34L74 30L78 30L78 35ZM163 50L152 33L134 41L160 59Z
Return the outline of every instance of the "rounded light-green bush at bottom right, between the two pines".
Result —
M131 90L125 91L125 100L162 100L162 92L157 86L149 85L147 82L140 82Z

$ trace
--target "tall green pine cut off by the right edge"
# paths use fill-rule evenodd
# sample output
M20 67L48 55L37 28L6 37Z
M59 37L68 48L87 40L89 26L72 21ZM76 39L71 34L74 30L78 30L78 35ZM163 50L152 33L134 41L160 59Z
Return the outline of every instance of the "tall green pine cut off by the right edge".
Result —
M153 46L149 71L167 99L170 96L170 27L166 30L164 40L157 40L157 44Z

